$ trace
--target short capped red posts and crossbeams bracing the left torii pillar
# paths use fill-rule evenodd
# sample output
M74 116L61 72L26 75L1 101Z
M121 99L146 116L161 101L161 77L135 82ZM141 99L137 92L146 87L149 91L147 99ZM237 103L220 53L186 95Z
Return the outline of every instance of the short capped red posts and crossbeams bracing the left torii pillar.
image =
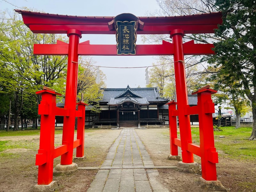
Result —
M74 111L75 116L78 117L76 140L72 140L70 143L62 142L62 145L54 147L55 116L68 117L70 110L56 107L56 95L61 96L61 94L56 93L53 89L44 87L36 94L42 95L42 101L38 106L38 114L41 115L41 129L40 146L38 154L36 154L36 165L38 165L37 184L49 185L52 182L53 159L68 153L68 146L76 148L76 157L84 156L84 119L85 105L87 104L80 101L77 103L78 110Z

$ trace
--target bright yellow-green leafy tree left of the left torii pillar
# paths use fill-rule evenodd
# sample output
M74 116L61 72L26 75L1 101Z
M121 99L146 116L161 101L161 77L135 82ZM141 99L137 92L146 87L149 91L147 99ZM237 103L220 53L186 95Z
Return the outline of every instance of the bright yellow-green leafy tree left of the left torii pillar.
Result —
M35 97L37 104L40 103L41 97L36 96L35 92L44 85L65 93L67 56L37 56L33 54L33 46L56 44L57 39L67 41L67 38L55 34L34 34L23 24L19 14L10 13L7 19L4 12L1 14L4 16L1 39L7 51L0 51L0 57L13 71L13 78L19 84L13 92L12 101L15 122L18 122L17 113L21 112L24 91Z

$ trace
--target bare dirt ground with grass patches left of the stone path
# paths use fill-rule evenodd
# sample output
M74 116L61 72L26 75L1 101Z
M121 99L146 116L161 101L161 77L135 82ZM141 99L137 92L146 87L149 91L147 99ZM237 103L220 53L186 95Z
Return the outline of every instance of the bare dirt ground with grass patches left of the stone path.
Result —
M102 164L108 149L120 132L121 130L100 129L86 131L84 153L87 158L84 161L76 161L78 166ZM55 135L55 146L61 144L61 138L62 134ZM39 148L39 136L0 137L0 141L7 140L8 145L17 146L17 148L0 152L0 191L30 191L37 183L38 168L35 166L35 158ZM60 157L54 159L54 166L59 163ZM78 170L69 175L53 176L53 180L58 182L57 191L86 191L96 173L97 170Z

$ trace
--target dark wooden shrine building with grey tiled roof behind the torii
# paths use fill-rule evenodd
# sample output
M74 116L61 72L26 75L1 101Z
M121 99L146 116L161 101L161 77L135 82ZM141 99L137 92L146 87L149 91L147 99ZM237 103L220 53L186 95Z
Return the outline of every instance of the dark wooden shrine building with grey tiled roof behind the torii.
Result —
M102 88L100 113L87 106L85 126L93 128L114 127L164 127L169 124L168 99L160 97L156 87ZM64 104L64 103L63 103ZM197 105L197 95L188 95L188 104ZM57 104L57 106L60 104ZM190 124L198 125L198 115L190 116Z

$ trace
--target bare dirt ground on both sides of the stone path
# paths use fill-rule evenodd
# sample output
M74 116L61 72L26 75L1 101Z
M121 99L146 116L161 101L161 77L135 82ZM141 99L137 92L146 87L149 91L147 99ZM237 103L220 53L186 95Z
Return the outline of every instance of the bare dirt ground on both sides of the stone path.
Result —
M77 161L78 166L99 166L104 161L108 148L114 143L121 130L90 129L85 133L85 161ZM157 166L177 165L178 161L167 160L170 148L168 129L136 130ZM61 144L62 134L55 135L55 145ZM0 192L30 191L37 183L35 156L39 147L39 136L0 137L11 148L0 152ZM217 149L218 150L218 149ZM217 164L218 180L228 191L256 191L256 160L239 161L229 159L219 152ZM179 152L180 153L180 152ZM75 154L75 151L74 151ZM75 156L75 155L74 155ZM200 163L200 158L195 156ZM54 160L54 166L60 163L60 157ZM97 170L78 170L69 175L53 176L58 181L57 191L86 191ZM171 192L204 191L198 187L201 175L182 173L175 169L159 169L159 181Z

